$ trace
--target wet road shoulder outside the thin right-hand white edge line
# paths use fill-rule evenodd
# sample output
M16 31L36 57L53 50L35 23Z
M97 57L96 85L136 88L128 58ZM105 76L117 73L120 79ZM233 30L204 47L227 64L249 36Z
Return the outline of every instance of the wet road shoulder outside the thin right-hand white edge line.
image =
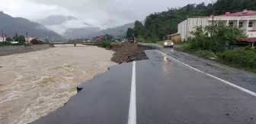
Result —
M159 51L180 60L184 64L194 67L197 70L201 70L210 75L216 76L219 79L224 79L228 82L232 82L235 85L247 88L251 91L256 91L256 74L248 73L243 70L238 70L232 67L227 67L222 64L218 64L213 60L206 60L202 57L197 57L193 54L187 54L182 51L176 51L175 48L162 48L161 45L142 43L142 45L150 45L157 48Z

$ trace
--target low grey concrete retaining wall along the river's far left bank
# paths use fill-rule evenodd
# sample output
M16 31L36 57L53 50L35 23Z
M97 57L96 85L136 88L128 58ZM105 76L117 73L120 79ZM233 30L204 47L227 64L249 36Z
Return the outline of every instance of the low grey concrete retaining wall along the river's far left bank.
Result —
M31 47L24 47L24 45L10 45L10 46L2 46L0 47L0 56L8 55L8 54L20 54L26 53L30 51L40 51L50 48L50 45L32 45Z

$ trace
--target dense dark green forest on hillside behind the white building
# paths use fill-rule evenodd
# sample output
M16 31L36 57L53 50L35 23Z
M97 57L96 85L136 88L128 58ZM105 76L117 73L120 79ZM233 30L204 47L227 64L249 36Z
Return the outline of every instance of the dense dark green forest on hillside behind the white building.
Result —
M136 21L133 33L140 39L147 42L156 42L164 38L165 35L177 33L178 23L186 20L187 17L219 15L229 12L243 11L244 9L256 10L255 0L217 0L216 3L189 4L182 8L168 8L168 11L150 14L145 19L145 25ZM131 29L129 29L130 34ZM129 35L130 36L130 35Z

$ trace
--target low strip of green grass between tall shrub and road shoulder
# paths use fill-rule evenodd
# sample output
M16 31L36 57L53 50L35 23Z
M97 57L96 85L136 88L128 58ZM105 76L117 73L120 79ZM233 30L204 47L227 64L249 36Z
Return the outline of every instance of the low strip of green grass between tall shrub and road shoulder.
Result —
M190 54L209 59L215 57L214 61L225 64L229 67L235 67L241 70L246 70L251 73L256 73L256 49L245 48L244 50L229 50L222 52L213 52L191 48L190 44L185 43L179 48L180 51L185 51Z

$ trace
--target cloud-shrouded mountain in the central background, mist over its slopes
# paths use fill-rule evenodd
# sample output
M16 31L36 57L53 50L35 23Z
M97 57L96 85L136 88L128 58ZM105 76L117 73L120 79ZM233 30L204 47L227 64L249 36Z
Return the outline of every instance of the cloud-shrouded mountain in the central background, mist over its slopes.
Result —
M101 36L106 33L112 36L125 36L126 30L134 26L134 23L127 23L123 26L101 30L99 27L91 26L75 17L62 15L51 15L37 20L37 22L69 39L91 39L94 36Z

